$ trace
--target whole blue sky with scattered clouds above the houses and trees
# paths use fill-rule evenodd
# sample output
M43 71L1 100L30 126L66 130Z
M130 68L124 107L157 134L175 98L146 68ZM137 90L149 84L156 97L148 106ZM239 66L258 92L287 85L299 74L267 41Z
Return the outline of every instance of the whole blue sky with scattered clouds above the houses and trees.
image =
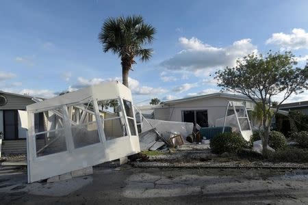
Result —
M120 59L97 40L109 16L157 28L153 58L130 72L135 102L218 92L209 74L248 53L308 58L308 1L0 1L0 90L52 97L118 79ZM307 55L307 57L306 57ZM308 93L291 101L308 100Z

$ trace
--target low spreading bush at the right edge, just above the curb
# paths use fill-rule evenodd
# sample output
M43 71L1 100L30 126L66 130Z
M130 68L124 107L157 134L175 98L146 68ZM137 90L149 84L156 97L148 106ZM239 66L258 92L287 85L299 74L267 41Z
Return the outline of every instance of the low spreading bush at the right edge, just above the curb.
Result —
M268 160L272 162L307 163L308 152L300 148L285 148L268 153Z

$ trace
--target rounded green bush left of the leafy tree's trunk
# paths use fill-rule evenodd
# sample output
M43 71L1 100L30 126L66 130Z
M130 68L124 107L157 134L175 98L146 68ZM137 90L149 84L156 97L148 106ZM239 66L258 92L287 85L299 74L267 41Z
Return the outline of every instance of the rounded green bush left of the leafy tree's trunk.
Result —
M246 145L245 139L240 133L220 133L209 142L211 152L222 154L224 152L237 153Z

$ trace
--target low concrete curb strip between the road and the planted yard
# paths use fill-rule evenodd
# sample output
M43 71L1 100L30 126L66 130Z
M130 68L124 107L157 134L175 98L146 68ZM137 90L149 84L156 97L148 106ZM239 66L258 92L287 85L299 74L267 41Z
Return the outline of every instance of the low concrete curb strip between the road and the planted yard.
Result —
M227 165L208 163L147 163L134 162L131 163L133 167L140 168L206 168L206 169L308 169L308 165L290 164L290 165Z

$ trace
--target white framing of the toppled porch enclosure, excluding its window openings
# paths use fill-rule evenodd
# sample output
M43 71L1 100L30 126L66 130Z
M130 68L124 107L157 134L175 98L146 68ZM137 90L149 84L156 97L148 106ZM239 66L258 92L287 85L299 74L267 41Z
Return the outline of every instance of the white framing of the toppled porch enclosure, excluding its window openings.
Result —
M119 99L119 103L123 111L123 116L119 116L117 118L124 119L124 126L127 131L127 135L106 141L105 133L103 130L103 120L101 119L101 115L99 113L99 106L97 105L97 101L98 99L108 100L114 98ZM72 124L70 117L68 116L68 107L78 107L79 105L77 104L79 102L84 102L84 100L92 100L94 112L91 112L95 115L100 142L93 143L84 147L75 148L71 131L71 127L75 125ZM128 100L131 102L131 109L133 113L133 118L131 119L133 119L134 122L136 135L131 135L127 120L129 117L127 117L126 110L123 105L123 100ZM63 128L35 133L34 113L50 111L52 109L58 108L62 109ZM67 172L97 165L106 161L120 159L122 157L140 152L138 129L136 125L135 112L133 110L131 91L121 83L109 82L102 83L100 85L93 85L92 87L86 87L84 89L77 90L76 92L71 92L62 96L44 100L42 102L37 102L27 106L27 113L29 127L27 135L28 182L36 182L38 180L65 174ZM57 115L59 113L55 114ZM112 119L113 118L108 118L106 120ZM85 123L81 122L81 124L84 125ZM66 151L44 156L37 156L36 135L59 130L64 130L66 139Z

